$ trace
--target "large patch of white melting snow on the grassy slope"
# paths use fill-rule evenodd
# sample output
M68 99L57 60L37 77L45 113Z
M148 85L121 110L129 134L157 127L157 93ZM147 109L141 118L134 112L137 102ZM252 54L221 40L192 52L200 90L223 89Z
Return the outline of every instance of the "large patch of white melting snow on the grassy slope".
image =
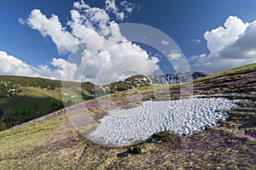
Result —
M161 131L189 135L206 126L218 126L218 120L229 116L225 111L236 106L224 98L146 101L136 108L109 111L88 138L99 144L125 146Z

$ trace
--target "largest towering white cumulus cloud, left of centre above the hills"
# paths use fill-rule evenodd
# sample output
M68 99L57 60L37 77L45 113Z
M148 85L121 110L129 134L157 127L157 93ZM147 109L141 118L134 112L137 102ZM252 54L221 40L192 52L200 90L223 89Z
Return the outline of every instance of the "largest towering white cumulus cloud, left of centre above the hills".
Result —
M59 54L70 56L52 59L53 69L39 65L32 71L44 77L102 84L159 70L159 60L128 41L121 35L119 25L111 20L111 14L124 20L135 6L123 1L119 7L113 0L107 0L105 8L90 7L84 1L73 3L71 19L66 23L68 29L57 15L47 18L39 9L33 9L28 19L22 21L43 37L49 36Z

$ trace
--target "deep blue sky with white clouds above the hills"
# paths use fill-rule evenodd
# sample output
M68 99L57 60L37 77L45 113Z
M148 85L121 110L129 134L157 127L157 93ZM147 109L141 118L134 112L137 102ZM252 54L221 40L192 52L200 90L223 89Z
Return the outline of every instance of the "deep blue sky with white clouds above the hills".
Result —
M137 74L215 73L256 62L254 0L0 4L0 75L103 84Z

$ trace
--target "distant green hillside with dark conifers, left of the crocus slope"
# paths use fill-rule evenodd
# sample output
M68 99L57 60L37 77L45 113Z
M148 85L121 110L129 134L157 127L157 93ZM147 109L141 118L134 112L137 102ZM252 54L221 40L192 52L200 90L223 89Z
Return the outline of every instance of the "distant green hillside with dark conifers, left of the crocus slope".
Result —
M94 85L84 82L81 85L83 99L92 99L90 92ZM0 131L22 122L58 111L64 105L81 102L74 94L61 95L61 81L38 77L0 76ZM64 102L64 103L63 103Z

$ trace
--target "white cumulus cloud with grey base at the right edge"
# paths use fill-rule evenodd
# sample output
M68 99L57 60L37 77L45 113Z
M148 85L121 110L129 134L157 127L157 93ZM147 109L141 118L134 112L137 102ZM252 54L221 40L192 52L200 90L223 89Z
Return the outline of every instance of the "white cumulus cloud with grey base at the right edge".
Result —
M209 54L192 56L192 70L214 73L256 62L256 20L244 23L230 16L212 31L205 32Z

